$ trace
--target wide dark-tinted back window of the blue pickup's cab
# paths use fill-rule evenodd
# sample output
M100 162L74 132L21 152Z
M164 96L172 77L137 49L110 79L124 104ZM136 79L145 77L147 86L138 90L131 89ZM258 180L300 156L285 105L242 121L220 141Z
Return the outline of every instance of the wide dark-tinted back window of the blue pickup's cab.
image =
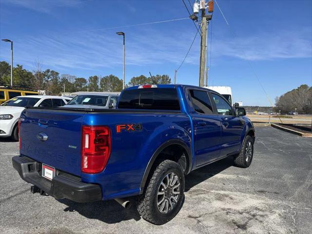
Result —
M180 110L176 89L150 88L123 91L118 109Z

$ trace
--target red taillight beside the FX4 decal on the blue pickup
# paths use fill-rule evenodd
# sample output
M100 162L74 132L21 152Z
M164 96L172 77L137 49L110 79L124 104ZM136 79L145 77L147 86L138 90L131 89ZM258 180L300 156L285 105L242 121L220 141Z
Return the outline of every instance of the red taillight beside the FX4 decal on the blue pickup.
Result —
M82 126L81 171L99 173L111 154L111 130L106 126Z

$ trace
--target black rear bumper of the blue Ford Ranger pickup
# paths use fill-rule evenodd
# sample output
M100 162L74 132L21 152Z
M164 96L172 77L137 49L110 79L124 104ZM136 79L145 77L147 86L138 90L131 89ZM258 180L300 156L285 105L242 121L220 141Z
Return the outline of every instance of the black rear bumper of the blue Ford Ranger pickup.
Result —
M67 198L76 202L102 199L102 191L97 184L83 183L79 177L61 172L49 181L40 175L39 163L25 156L14 156L12 163L23 180L56 199Z

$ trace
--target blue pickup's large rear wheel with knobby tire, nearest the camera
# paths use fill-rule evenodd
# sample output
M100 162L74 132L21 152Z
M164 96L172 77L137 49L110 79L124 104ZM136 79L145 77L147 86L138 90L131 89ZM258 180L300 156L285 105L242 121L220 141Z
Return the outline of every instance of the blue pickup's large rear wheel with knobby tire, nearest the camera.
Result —
M161 225L173 219L184 203L184 174L174 161L158 164L144 191L138 196L137 211L146 221Z

